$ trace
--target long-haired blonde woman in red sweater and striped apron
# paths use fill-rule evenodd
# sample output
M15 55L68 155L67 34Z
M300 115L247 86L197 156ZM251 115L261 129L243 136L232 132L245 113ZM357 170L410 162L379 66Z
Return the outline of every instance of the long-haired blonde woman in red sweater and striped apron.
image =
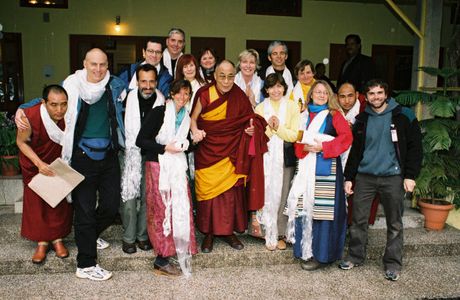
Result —
M312 271L342 257L347 212L340 154L353 137L323 80L312 85L300 119L304 131L294 145L299 161L287 200L287 239L302 269Z

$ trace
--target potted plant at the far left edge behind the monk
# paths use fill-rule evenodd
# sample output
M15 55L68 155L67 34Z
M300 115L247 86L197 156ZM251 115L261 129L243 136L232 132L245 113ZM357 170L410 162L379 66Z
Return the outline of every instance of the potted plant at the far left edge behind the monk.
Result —
M19 174L19 148L16 145L16 125L6 112L0 112L0 163L4 176Z

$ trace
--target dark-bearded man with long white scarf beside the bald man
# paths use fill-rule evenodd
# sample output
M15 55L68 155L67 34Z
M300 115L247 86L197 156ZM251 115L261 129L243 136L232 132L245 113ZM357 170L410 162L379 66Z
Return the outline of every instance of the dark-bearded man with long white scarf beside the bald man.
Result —
M136 252L136 241L139 249L144 251L152 249L147 235L145 168L143 167L145 158L141 154L141 149L136 146L136 138L147 114L154 107L165 103L163 94L156 89L157 72L154 66L139 65L135 77L137 87L129 92L126 99L126 150L121 180L122 250L127 254Z

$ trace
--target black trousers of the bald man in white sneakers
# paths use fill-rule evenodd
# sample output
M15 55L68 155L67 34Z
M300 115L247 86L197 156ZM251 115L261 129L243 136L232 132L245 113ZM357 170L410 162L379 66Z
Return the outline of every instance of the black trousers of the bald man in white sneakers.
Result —
M103 160L92 160L77 149L72 167L85 176L72 199L77 266L87 268L96 265L96 240L112 224L120 205L120 165L112 151Z

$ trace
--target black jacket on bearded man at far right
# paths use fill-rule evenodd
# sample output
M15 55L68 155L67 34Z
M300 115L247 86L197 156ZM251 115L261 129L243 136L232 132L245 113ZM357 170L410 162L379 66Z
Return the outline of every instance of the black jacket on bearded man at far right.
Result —
M346 181L354 180L363 159L368 118L369 114L366 111L356 116L356 122L353 125L353 144L344 172ZM398 105L392 111L391 122L395 125L398 135L398 142L393 144L401 167L401 174L405 179L415 179L420 172L423 158L422 134L417 118L412 110Z

